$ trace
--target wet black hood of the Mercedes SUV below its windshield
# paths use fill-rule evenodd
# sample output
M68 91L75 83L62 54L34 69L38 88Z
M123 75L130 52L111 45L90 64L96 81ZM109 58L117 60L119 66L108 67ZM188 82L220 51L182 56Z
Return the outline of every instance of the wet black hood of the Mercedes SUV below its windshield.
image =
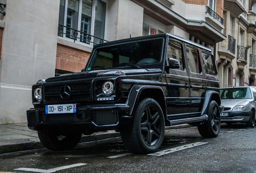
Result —
M91 78L97 76L120 76L120 75L132 75L132 74L151 74L161 73L162 70L159 68L150 69L115 69L115 70L93 70L85 72L74 72L68 74L62 74L57 77L47 78L45 82L61 81L61 80L73 80L82 78Z

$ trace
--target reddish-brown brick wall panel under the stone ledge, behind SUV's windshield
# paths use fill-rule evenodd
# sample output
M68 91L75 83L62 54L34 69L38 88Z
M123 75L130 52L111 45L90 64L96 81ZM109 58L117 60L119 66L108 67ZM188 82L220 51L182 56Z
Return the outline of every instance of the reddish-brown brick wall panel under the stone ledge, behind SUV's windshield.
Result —
M57 44L56 69L80 72L85 68L90 52Z

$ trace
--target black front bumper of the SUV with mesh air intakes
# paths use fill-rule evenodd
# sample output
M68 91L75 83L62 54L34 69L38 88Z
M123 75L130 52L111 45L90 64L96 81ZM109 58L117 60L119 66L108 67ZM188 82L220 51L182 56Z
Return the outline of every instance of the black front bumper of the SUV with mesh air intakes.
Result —
M45 107L27 110L28 127L75 127L93 131L117 130L130 123L130 107L126 104L76 106L76 113L45 114Z

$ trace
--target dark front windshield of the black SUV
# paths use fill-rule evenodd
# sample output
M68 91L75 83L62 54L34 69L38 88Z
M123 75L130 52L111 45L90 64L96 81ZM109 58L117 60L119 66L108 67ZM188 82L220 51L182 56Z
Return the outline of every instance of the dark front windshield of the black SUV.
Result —
M140 68L161 61L163 38L126 42L97 48L87 70Z

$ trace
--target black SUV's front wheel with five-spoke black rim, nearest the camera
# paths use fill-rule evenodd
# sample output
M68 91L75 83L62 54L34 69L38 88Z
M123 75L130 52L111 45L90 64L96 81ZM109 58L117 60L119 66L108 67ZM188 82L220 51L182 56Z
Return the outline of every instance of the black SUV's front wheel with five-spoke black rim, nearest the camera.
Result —
M163 143L165 120L160 105L151 98L140 101L130 126L120 129L122 141L132 153L156 152Z

